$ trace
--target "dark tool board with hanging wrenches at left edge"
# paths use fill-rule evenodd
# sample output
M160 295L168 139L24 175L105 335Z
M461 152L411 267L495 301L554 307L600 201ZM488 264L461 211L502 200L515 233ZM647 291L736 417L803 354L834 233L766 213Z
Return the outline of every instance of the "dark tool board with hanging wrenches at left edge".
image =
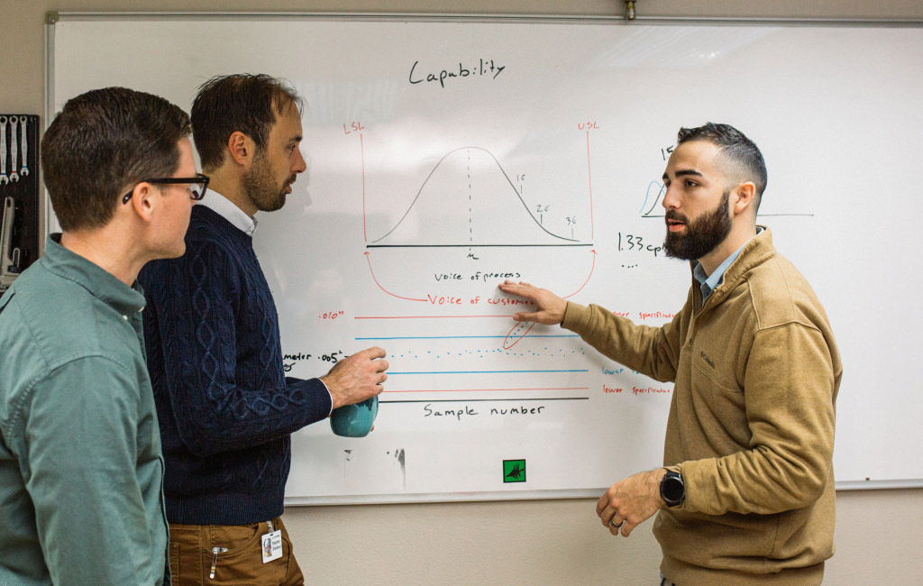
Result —
M6 174L0 175L0 210L5 207L6 197L13 197L16 215L11 248L18 248L19 263L14 270L21 272L39 256L39 116L0 114L0 129L4 131L0 150L6 147L5 165L0 166L0 171L6 169Z

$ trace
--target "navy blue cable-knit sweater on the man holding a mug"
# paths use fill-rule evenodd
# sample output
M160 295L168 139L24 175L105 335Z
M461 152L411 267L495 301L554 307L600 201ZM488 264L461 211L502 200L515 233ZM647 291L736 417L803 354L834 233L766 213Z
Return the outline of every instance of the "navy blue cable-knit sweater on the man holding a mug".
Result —
M186 255L138 277L171 522L282 514L289 435L330 413L318 379L284 377L279 318L253 241L197 206Z

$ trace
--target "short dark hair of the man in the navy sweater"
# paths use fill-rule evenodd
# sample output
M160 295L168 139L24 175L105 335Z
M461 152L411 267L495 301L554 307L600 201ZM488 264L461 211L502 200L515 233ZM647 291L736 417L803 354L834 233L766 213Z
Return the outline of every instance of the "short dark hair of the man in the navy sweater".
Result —
M285 81L265 74L235 74L210 78L198 88L192 103L192 132L202 169L220 167L228 138L236 131L266 147L276 114L302 100Z

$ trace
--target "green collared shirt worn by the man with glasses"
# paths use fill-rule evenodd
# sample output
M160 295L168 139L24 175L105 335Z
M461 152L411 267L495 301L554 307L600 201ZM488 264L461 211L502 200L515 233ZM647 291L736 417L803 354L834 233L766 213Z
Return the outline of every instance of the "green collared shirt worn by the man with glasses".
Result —
M0 299L0 584L169 582L144 295L58 240Z

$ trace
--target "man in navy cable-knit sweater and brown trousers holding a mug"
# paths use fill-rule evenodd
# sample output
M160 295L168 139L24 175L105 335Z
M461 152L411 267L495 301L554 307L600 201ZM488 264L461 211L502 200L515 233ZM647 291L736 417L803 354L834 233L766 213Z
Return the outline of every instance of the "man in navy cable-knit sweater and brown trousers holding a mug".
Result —
M289 436L377 395L387 378L380 348L325 377L283 374L253 216L281 209L306 170L300 110L294 90L269 76L212 78L199 89L192 126L209 194L193 210L186 255L139 277L174 584L304 583L280 518ZM282 556L264 563L280 537Z

